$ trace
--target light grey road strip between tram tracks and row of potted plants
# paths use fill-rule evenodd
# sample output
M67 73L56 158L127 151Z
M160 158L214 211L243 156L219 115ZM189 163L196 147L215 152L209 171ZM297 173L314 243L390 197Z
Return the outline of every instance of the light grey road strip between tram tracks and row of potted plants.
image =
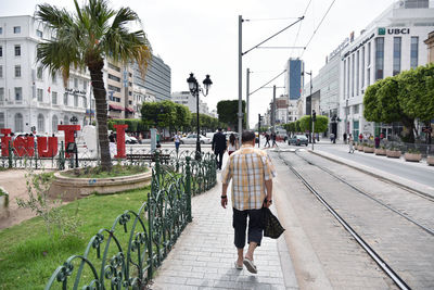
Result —
M310 146L309 146L310 148ZM360 163L361 165L374 167L379 171L394 174L396 176L434 187L434 168L426 164L412 164L401 160L391 160L384 156L375 156L355 151L348 154L347 146L344 144L316 144L317 150L328 152L339 157Z

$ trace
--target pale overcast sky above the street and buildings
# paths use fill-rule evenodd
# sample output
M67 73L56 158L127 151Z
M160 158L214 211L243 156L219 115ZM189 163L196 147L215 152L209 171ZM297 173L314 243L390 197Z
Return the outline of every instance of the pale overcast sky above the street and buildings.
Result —
M0 0L0 16L33 15L37 4L50 3L74 9L73 0ZM78 0L82 3L82 0ZM242 58L243 99L246 68L253 73L250 91L261 87L285 68L289 58L302 58L306 71L316 76L332 52L352 31L359 36L393 0L110 0L114 9L129 5L141 18L153 53L171 68L171 91L188 90L187 78L194 73L202 84L207 74L213 86L201 100L209 110L221 100L238 100L239 15L242 15L243 52L280 29L303 21L264 43L267 47L303 49L254 49ZM323 18L327 10L330 9ZM306 13L305 13L306 11ZM247 21L248 20L248 21ZM316 31L314 34L314 31ZM312 37L314 36L314 37ZM277 97L284 93L283 76L276 85ZM251 96L250 124L265 114L272 101L272 89Z

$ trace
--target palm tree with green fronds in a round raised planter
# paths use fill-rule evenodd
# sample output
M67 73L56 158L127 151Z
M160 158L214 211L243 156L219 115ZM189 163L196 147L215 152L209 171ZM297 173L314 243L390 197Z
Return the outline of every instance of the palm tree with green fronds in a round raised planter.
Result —
M89 70L97 102L101 167L111 171L107 103L102 72L104 59L124 64L136 60L144 75L152 56L151 45L142 29L128 30L131 22L140 23L139 16L129 8L115 11L108 8L106 0L89 0L81 8L77 0L74 3L74 13L54 5L38 5L36 18L51 29L53 38L38 45L37 61L51 74L61 72L65 86L69 68Z

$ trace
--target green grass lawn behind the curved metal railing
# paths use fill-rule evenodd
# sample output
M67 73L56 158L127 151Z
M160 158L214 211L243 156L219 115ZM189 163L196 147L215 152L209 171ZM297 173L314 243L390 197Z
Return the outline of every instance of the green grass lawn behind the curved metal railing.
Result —
M0 230L0 289L43 289L58 266L73 254L84 254L90 238L101 228L110 229L115 218L125 210L137 212L146 200L149 191L148 187L119 194L91 196L64 205L62 209L73 215L78 202L78 215L82 222L78 228L80 237L52 239L47 234L43 220L39 217ZM131 224L128 224L128 230ZM117 235L129 235L129 231L119 234L124 232L120 229L123 229L122 226L117 226ZM122 241L126 239L127 237L120 238ZM125 242L123 245L126 247ZM112 248L110 252L115 253L116 250ZM103 250L102 248L101 254ZM89 259L92 262L97 261L94 250L90 251ZM76 270L77 268L74 273ZM98 264L97 270L99 270ZM89 279L86 270L84 276ZM68 285L73 285L71 280ZM54 286L56 287L51 289L61 289L62 285L55 282Z

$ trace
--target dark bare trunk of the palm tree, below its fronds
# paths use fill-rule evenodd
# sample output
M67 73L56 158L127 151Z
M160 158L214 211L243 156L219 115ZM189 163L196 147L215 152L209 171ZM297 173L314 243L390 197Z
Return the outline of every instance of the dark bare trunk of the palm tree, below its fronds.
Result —
M93 96L97 103L97 121L98 121L98 137L100 142L101 168L104 172L112 169L112 157L110 155L108 136L107 136L107 101L105 99L106 91L104 88L102 66L90 71L90 79L92 80Z

